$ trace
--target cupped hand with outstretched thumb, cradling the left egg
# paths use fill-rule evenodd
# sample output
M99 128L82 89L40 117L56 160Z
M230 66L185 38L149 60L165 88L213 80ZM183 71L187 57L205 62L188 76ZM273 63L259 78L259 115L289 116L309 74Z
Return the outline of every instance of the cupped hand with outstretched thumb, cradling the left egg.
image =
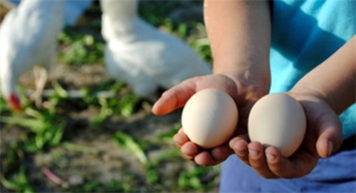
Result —
M207 88L221 89L229 94L239 106L238 128L241 129L236 129L234 136L246 133L247 117L251 106L257 99L265 95L267 90L254 82L237 79L226 74L194 77L164 92L152 107L152 112L157 115L168 114L184 106L193 94ZM247 140L247 138L245 139ZM193 160L198 165L216 165L234 153L229 148L229 142L211 149L200 148L199 145L189 140L182 129L174 136L173 140L184 157Z

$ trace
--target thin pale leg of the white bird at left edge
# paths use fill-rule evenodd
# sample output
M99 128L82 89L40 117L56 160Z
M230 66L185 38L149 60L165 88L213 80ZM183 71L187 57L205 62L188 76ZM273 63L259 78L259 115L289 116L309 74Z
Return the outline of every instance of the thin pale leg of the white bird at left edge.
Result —
M36 91L31 94L31 99L35 101L36 106L39 107L42 104L42 92L47 81L47 71L44 67L35 66L33 73L36 80Z

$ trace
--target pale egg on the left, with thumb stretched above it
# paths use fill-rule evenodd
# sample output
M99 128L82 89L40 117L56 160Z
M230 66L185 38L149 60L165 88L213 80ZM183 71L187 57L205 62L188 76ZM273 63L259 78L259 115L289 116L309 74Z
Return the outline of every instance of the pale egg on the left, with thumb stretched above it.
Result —
M234 100L219 89L194 94L182 111L182 128L201 148L214 148L232 136L238 121Z

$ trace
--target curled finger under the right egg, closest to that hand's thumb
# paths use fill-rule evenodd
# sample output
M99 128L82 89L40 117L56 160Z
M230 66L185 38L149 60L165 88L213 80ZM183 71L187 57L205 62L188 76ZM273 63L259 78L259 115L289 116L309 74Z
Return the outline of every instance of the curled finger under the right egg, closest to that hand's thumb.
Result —
M268 168L278 177L303 177L313 170L318 158L305 150L297 150L290 158L284 158L277 148L268 147L265 150Z

